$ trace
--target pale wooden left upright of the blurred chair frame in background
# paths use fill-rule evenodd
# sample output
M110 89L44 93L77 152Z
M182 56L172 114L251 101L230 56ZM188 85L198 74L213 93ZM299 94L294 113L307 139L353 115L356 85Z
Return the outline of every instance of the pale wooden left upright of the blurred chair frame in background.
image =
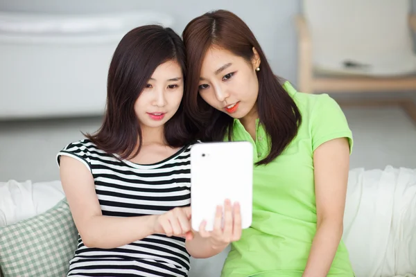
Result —
M312 42L306 19L302 15L295 17L298 38L297 83L300 91L312 93Z

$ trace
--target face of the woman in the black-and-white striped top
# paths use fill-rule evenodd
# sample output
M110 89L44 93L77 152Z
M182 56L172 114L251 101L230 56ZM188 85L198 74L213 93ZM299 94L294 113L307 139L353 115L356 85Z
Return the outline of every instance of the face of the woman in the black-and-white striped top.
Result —
M160 64L135 102L141 127L161 127L176 113L184 94L180 65L174 61Z

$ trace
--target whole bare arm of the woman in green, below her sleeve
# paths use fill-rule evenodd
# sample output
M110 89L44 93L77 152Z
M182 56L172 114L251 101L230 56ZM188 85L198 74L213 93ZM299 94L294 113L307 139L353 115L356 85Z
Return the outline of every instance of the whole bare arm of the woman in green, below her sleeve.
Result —
M327 276L343 235L343 217L349 172L349 143L333 139L313 153L317 231L304 277Z

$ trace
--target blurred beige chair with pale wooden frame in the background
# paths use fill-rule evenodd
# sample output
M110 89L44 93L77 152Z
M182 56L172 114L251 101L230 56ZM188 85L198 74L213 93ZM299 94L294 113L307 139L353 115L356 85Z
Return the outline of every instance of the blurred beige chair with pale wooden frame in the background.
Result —
M300 91L415 93L340 105L399 105L416 123L416 15L410 7L407 0L304 0L295 19Z

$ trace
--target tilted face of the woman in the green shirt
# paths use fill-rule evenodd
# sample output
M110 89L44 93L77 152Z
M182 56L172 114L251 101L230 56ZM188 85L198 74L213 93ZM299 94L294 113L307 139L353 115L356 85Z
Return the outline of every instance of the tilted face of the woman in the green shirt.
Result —
M199 93L209 105L233 118L257 115L259 55L248 62L223 48L211 47L202 62Z

